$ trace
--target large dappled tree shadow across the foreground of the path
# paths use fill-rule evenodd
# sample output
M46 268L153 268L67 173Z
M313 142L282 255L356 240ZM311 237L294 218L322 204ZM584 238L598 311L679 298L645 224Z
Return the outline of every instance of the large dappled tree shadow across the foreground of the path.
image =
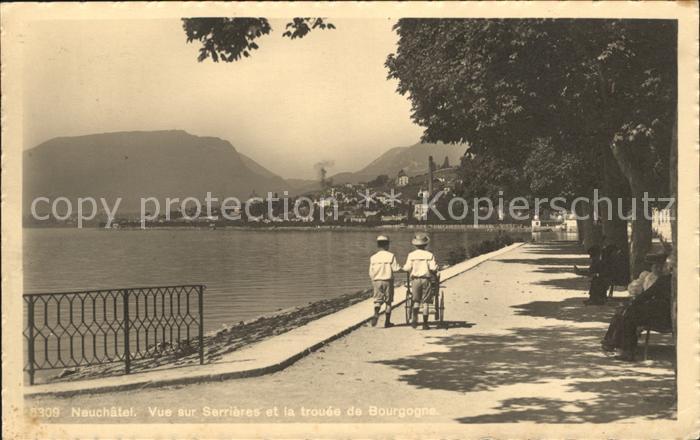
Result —
M405 371L400 380L423 389L475 392L540 383L541 394L546 394L545 382L568 380L569 391L593 393L568 402L546 397L505 399L493 414L458 419L464 423L606 423L630 417L674 417L672 348L655 348L656 368L649 372L637 369L640 364L603 355L597 349L600 329L548 326L509 331L434 337L433 342L447 352L378 363Z

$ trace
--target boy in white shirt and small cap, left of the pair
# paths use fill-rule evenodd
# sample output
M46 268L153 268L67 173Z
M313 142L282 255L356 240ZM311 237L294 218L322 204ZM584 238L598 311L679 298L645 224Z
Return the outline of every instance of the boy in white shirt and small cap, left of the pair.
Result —
M394 254L389 252L389 237L380 235L377 237L377 247L379 250L369 259L369 277L372 280L374 291L374 316L372 316L372 327L377 325L379 320L379 309L385 304L384 327L392 327L391 323L391 303L394 300L394 272L401 270L401 266L396 261Z

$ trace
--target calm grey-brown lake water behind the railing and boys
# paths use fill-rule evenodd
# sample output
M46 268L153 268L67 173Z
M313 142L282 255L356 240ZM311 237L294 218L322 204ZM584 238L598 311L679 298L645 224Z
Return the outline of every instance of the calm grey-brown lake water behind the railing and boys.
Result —
M369 287L378 231L234 229L25 229L28 293L205 284L205 331L281 308ZM414 231L388 231L400 263ZM451 249L489 231L430 232L446 262ZM529 232L511 236L530 238Z

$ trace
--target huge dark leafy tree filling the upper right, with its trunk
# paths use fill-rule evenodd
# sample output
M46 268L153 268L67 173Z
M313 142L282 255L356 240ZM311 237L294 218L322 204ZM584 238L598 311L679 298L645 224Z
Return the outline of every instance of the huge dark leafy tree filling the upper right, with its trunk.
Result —
M601 170L608 196L667 191L674 22L401 19L395 30L386 66L423 141L469 142L515 168L546 138L562 153L591 152L583 166ZM651 245L636 214L634 275Z

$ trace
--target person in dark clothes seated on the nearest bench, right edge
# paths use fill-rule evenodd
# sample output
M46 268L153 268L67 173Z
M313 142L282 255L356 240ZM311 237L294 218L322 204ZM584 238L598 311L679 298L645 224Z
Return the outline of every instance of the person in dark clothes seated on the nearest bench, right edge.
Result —
M671 327L672 262L665 254L647 255L650 272L642 272L629 285L632 299L613 316L602 341L603 350L619 350L623 360L634 360L638 327Z

